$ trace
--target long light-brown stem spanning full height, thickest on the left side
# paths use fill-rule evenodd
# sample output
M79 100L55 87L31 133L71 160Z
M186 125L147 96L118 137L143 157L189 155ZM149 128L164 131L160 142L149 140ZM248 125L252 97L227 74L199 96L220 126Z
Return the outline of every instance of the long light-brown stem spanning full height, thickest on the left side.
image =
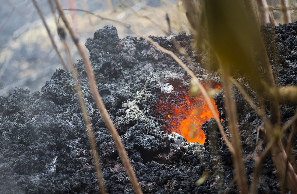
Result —
M87 71L87 77L88 77L88 80L89 80L89 83L90 83L90 90L92 92L92 95L94 97L94 100L95 100L95 103L101 113L101 116L103 117L104 119L104 122L107 126L107 129L110 131L114 141L115 141L115 144L116 144L116 147L119 151L119 154L121 156L121 159L122 159L122 163L123 163L123 166L125 167L126 171L127 171L127 174L128 176L130 177L130 182L134 188L134 191L137 193L137 194L141 194L143 193L140 186L139 186L139 183L137 181L137 178L134 174L134 171L132 169L132 166L131 166L131 163L129 161L129 158L128 158L128 155L126 153L126 150L125 150L125 147L119 137L119 133L117 132L115 126L113 125L112 121L110 120L110 117L106 111L106 108L105 108L105 105L101 99L101 96L98 92L98 88L96 86L96 81L95 81L95 74L94 74L94 71L92 69L92 66L91 66L91 62L88 58L88 56L86 55L86 53L84 52L83 50L83 47L82 45L80 44L79 42L79 39L76 35L76 33L74 32L73 30L73 27L72 25L68 22L65 14L64 14L64 11L63 11L63 8L62 8L62 5L61 5L61 2L59 0L55 0L55 3L56 3L56 6L57 6L57 9L60 13L60 17L62 18L62 20L64 21L65 23L65 26L66 28L68 29L72 39L73 39L73 42L75 43L76 47L77 47L77 50L79 51L80 55L82 56L82 60L84 61L84 64L85 64L85 68L86 68L86 71Z

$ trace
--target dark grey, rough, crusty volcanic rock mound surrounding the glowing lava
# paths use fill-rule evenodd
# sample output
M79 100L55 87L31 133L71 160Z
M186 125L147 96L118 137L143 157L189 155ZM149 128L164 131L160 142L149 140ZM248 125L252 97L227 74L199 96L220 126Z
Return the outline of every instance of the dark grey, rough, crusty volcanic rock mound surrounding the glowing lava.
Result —
M277 82L297 85L297 23L262 27ZM218 83L217 73L208 74L203 53L191 51L191 35L173 35L196 63L190 68L201 81ZM161 46L173 50L173 36L152 37ZM276 43L277 55L273 53ZM119 39L115 27L104 27L88 39L98 89L118 130L144 193L223 193L234 174L232 158L218 132L214 119L203 124L204 146L187 143L176 133L168 135L166 112L156 104L178 103L181 89L189 89L189 76L173 59L144 39ZM277 56L277 57L275 57ZM185 61L183 56L180 59ZM201 65L200 65L201 63ZM109 193L133 193L121 164L114 141L88 89L82 61L76 63L82 91L102 162ZM164 92L172 85L174 90ZM163 89L162 89L163 87ZM171 87L171 86L170 86ZM222 93L214 97L220 117L225 120ZM246 172L252 180L256 126L261 120L235 90L238 125L243 140ZM289 120L295 105L281 105L283 122ZM164 108L166 110L166 108ZM88 137L71 74L57 70L40 92L21 88L0 97L0 187L2 193L98 193L97 179ZM223 121L229 134L226 121ZM294 139L296 155L297 138ZM195 182L208 171L199 186ZM259 193L280 193L276 171L270 157L260 173ZM236 193L236 184L229 193Z

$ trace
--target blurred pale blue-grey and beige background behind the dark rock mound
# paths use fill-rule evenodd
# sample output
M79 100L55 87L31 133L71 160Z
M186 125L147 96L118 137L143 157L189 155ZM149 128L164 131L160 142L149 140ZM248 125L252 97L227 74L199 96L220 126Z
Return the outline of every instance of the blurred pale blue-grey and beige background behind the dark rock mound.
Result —
M255 4L257 1L255 0ZM62 68L60 60L30 0L0 0L0 2L0 95L8 95L9 92L13 92L15 86L40 91L55 69ZM38 3L58 43L58 49L62 56L66 56L63 44L56 33L57 27L48 1L40 0ZM288 3L291 21L295 21L297 2L289 0ZM279 5L278 0L267 0L275 24L283 23ZM129 23L143 35L165 36L171 33L178 34L180 31L190 33L191 30L182 1L179 0L65 0L63 6L89 9L103 17ZM119 38L136 36L123 26L102 21L84 12L66 11L66 13L82 43L86 38L93 37L94 30L105 25L116 26ZM230 24L232 22L236 21L230 21ZM243 33L248 35L248 32L244 31L245 24L241 27ZM69 37L67 41L73 44ZM74 62L80 59L75 47L70 46L70 49ZM248 56L245 58L249 59Z

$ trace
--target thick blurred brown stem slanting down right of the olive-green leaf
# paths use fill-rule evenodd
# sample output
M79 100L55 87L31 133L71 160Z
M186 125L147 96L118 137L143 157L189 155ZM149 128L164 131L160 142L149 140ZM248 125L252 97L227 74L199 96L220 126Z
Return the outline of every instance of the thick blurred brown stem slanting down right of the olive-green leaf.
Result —
M274 77L272 74L272 69L269 63L269 59L266 53L265 44L262 40L262 36L260 33L259 25L257 23L257 18L254 12L253 4L251 0L244 0L244 5L247 10L247 15L250 18L250 22L252 26L254 27L254 38L255 41L258 42L258 52L259 54L259 60L262 65L264 78L266 81L266 84L268 86L266 91L272 91L271 93L276 93L277 89L274 82ZM270 95L269 96L270 101L270 109L271 109L271 116L273 125L269 126L269 123L265 123L265 129L267 130L266 133L266 142L271 142L272 140L275 140L275 144L271 149L271 156L272 160L277 168L278 174L281 176L286 169L283 168L283 166L286 165L287 161L287 155L283 148L283 144L281 142L280 138L280 110L279 110L279 99L277 95ZM288 165L287 170L285 171L286 175L286 184L289 187L289 189L293 191L297 191L297 175L294 172L294 169L291 164Z

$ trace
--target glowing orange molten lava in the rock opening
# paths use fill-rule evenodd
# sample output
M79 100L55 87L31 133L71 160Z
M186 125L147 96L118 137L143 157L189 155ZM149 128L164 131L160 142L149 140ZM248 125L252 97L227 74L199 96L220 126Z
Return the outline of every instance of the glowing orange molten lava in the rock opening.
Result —
M215 86L214 89L218 91L221 87L219 85ZM205 87L207 91L210 89ZM188 142L198 142L199 144L204 144L205 135L201 129L202 124L205 121L210 120L214 117L208 107L202 94L200 96L190 96L189 94L182 93L177 102L164 102L165 105L169 106L169 109L164 107L158 107L159 110L168 111L168 115L165 120L168 121L169 133L176 132L182 135ZM160 98L161 99L161 98ZM212 105L216 110L217 116L219 115L217 111L217 106L214 104L211 98ZM164 106L164 105L163 105ZM161 108L161 109L160 109Z

